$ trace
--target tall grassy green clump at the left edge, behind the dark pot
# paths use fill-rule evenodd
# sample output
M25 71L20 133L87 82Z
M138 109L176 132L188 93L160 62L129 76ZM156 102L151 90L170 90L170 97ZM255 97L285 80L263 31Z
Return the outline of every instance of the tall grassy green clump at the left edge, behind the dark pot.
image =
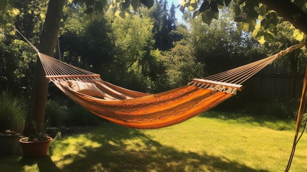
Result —
M11 129L22 133L26 122L26 101L15 98L11 92L0 95L0 131Z

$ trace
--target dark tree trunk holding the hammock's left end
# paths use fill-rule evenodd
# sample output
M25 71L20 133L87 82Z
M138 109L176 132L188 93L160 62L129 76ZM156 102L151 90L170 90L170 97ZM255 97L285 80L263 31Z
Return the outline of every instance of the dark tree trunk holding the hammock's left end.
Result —
M40 37L39 51L53 56L56 39L58 37L60 22L65 0L50 0L46 20ZM27 113L23 134L28 136L35 131L44 130L45 106L48 95L49 80L40 59L37 58L34 81L31 91L31 100Z

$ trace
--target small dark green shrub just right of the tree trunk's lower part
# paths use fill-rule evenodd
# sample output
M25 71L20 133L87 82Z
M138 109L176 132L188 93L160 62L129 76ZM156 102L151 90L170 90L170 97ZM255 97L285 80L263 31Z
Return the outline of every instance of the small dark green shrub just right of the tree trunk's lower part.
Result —
M67 106L60 105L57 101L50 99L46 103L45 123L47 126L59 126L65 123L67 118Z

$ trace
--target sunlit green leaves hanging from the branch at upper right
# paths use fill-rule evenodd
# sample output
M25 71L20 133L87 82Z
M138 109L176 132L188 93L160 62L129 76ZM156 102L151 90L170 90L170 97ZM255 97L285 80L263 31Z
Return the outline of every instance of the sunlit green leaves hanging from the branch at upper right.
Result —
M277 13L258 0L183 0L179 9L182 13L185 12L185 8L194 11L193 18L201 16L202 21L210 25L213 19L218 20L219 9L224 7L230 7L234 13L237 29L253 32L252 35L259 43L264 44L277 35ZM293 36L298 41L302 41L305 37L298 29L294 30Z

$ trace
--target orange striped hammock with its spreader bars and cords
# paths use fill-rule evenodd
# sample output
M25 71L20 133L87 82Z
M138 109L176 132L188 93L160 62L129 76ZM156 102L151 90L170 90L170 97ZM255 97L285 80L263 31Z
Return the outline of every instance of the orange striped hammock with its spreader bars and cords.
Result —
M292 46L265 59L158 94L118 87L99 74L77 68L46 54L39 58L46 77L77 104L110 122L131 128L153 129L174 125L218 105L241 91L241 85L273 60L304 46Z

